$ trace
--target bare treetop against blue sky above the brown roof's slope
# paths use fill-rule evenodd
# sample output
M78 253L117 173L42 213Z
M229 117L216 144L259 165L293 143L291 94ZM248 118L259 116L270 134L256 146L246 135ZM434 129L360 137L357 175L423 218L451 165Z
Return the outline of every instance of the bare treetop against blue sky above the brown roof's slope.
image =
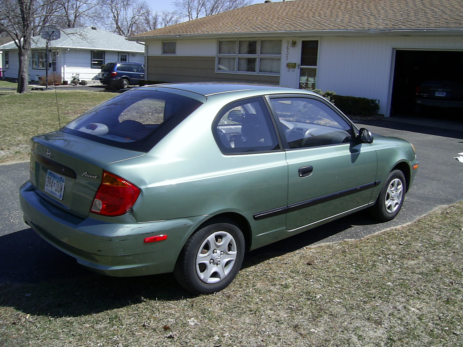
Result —
M175 10L189 20L248 6L250 0L176 0Z

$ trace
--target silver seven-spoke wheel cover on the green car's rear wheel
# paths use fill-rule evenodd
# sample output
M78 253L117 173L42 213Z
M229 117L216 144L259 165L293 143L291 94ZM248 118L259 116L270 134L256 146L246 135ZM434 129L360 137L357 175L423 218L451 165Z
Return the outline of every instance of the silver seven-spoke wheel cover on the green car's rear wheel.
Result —
M224 279L235 265L237 245L226 231L209 235L196 255L196 273L201 281L213 284Z

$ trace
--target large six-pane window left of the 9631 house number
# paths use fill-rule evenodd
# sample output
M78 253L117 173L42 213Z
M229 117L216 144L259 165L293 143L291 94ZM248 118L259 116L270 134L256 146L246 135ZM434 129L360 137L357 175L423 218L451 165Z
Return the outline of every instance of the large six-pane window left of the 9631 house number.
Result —
M279 74L281 40L219 41L217 72Z

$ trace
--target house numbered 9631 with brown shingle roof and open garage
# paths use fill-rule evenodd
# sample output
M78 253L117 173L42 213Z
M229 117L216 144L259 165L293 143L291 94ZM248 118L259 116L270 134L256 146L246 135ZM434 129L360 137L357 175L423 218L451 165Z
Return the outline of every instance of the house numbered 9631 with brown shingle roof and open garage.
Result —
M461 0L266 2L145 32L147 80L317 87L413 109L430 79L463 81Z

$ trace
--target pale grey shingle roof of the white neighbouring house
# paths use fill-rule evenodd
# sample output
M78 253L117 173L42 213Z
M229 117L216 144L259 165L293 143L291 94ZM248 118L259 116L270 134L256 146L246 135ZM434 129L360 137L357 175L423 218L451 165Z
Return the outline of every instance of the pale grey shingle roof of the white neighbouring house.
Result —
M32 48L45 48L45 39L34 36L31 46ZM123 36L91 26L63 29L61 37L51 41L50 47L144 52L144 47L138 43L127 41ZM14 42L11 42L4 44L1 48L16 49L17 47Z

